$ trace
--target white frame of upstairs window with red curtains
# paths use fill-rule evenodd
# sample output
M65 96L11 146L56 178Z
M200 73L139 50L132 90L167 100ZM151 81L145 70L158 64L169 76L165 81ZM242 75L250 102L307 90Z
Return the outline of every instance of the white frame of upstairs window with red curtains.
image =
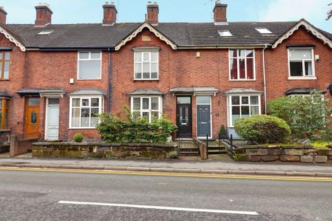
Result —
M237 50L237 55L239 55L239 50L245 50L245 52L244 52L244 57L231 57L231 55L230 55L230 51L231 50ZM253 57L252 57L252 62L253 62L253 68L254 68L254 70L253 70L253 79L248 79L248 73L247 73L247 57L246 57L246 50L252 50L253 52ZM250 57L251 58L251 57ZM232 77L231 77L231 75L230 75L230 69L231 69L231 67L230 67L230 60L231 59L237 59L237 79L232 79ZM246 66L246 79L240 79L240 59L244 59L245 61L245 66ZM249 49L249 48L240 48L240 49L238 49L238 48L230 48L230 49L228 49L228 76L229 76L229 80L230 81L256 81L256 61L255 61L255 48L252 48L252 49Z

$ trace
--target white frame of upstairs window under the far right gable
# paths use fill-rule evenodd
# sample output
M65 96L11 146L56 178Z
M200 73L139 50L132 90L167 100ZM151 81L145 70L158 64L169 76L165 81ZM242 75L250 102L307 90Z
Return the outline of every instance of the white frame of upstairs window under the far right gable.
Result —
M290 57L290 49L297 49L297 50L308 50L311 49L311 59L302 59L302 71L306 70L305 67L305 61L311 61L312 64L312 68L313 68L313 75L311 76L305 76L305 73L303 72L303 76L291 76L291 57ZM316 75L315 75L315 52L314 52L314 48L310 47L310 48L298 48L298 47L291 47L291 48L287 48L287 55L288 55L288 80L313 80L313 79L317 79ZM294 59L293 61L299 61L299 59Z

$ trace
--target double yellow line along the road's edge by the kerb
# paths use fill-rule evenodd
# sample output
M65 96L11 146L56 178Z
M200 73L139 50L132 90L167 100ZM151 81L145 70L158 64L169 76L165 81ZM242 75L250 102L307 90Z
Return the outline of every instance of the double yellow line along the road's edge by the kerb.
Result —
M248 179L248 180L287 180L287 181L310 181L310 182L332 182L330 177L298 177L298 176L275 176L275 175L230 175L210 173L168 173L152 171L107 171L107 170L84 170L84 169L43 169L29 167L0 167L0 171L34 171L34 172L61 172L61 173L98 173L113 175L155 175L174 177L209 177L221 179Z

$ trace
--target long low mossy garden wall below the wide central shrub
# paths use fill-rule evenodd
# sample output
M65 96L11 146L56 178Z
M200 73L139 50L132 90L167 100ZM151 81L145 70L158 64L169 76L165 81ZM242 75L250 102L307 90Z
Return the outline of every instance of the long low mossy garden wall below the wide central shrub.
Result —
M39 142L33 144L33 157L166 159L177 157L177 145Z

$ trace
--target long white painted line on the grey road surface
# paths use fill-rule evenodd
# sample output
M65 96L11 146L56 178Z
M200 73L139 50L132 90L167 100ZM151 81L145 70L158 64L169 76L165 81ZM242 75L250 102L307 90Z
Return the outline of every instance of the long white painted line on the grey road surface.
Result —
M138 208L138 209L190 211L190 212L201 212L201 213L228 213L228 214L241 214L241 215L258 215L257 212L250 212L250 211L230 211L230 210L219 210L219 209L192 209L192 208L169 207L169 206L145 206L145 205L135 205L135 204L114 204L114 203L103 203L103 202L59 201L58 203L93 205L93 206L118 206L118 207L130 207L130 208Z

